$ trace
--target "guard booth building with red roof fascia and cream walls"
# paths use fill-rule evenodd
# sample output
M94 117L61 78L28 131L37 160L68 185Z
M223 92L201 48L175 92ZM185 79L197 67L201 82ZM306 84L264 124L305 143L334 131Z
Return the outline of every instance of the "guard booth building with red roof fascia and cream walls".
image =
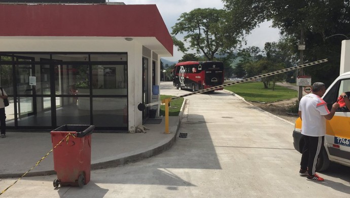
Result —
M79 124L133 133L149 117L137 104L151 102L160 57L173 52L157 6L84 2L0 0L9 130Z

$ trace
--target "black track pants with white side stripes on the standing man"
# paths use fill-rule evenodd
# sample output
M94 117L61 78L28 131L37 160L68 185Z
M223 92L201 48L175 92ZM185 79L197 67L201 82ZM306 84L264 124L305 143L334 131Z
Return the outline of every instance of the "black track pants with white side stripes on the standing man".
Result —
M302 170L308 169L308 174L314 175L316 172L317 159L325 142L325 136L311 137L303 135L303 138L304 148L301 155L300 168Z

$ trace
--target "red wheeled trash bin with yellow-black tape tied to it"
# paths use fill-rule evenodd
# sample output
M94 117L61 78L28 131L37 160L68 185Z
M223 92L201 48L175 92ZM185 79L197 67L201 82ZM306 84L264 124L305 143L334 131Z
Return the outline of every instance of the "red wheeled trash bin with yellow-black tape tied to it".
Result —
M52 146L55 147L67 134L68 140L64 139L53 149L54 170L57 179L53 186L73 185L82 187L90 181L91 167L91 134L93 125L63 125L51 131Z

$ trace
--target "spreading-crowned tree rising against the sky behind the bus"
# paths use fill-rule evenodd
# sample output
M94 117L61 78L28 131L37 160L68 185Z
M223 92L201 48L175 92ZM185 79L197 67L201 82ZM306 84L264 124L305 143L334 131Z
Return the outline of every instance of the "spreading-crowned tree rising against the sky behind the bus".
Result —
M172 37L174 45L182 52L195 50L197 54L203 53L207 60L214 60L217 53L225 54L231 52L240 43L239 35L242 35L240 29L230 30L228 36L227 13L225 10L213 8L194 9L189 13L182 13L178 22L172 27ZM189 47L175 38L178 34L185 34L184 41L188 42Z

